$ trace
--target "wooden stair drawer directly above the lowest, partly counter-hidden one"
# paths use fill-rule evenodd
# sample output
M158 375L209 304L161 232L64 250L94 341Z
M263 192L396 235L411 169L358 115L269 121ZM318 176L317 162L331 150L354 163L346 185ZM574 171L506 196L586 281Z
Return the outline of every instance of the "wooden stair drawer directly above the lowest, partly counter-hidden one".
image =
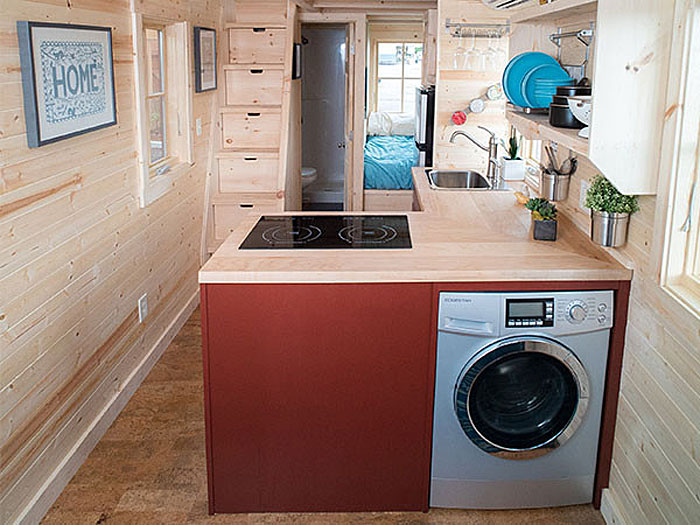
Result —
M279 156L273 153L241 153L219 159L219 191L277 191Z

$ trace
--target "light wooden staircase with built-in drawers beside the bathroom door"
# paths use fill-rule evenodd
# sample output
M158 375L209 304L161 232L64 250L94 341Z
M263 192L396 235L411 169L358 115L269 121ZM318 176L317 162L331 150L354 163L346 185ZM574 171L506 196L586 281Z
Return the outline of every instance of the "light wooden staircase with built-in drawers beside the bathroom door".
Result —
M285 208L289 84L294 36L286 0L237 0L220 49L220 144L210 177L212 253L252 212Z

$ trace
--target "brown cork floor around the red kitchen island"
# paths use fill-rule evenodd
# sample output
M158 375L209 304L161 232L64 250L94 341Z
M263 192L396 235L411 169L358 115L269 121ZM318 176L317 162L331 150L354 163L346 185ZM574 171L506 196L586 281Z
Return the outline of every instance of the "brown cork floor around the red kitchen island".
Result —
M44 525L603 524L590 505L517 511L207 514L199 310L78 470Z

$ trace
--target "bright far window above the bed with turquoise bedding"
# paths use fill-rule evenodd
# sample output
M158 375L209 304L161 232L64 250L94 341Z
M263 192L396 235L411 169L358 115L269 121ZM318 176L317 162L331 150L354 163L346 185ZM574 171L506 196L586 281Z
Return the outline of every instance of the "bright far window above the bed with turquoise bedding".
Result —
M376 111L412 113L421 83L423 44L378 42Z

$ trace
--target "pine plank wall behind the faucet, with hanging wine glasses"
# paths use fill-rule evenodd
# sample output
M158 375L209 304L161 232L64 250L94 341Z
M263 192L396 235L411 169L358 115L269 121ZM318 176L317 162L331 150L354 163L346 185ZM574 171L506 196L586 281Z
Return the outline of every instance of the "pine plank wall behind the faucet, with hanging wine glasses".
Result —
M445 21L452 22L505 22L502 12L485 7L481 0L440 0L438 2L437 41L438 41L438 71L437 95L435 110L435 151L433 164L440 168L472 168L486 172L488 155L469 142L464 137L450 144L452 133L461 129L480 140L488 142L488 134L476 126L484 126L499 137L508 133L508 123L505 119L505 97L500 101L488 102L486 109L480 114L470 114L467 123L462 126L452 124L452 113L468 107L469 101L482 96L486 89L501 81L503 67L497 71L461 71L454 69L454 52L460 45L469 48L469 38L452 38L445 29ZM461 42L460 42L461 40ZM508 51L508 38L501 42L504 50ZM479 49L486 47L485 39L477 39ZM500 153L500 152L499 152Z

